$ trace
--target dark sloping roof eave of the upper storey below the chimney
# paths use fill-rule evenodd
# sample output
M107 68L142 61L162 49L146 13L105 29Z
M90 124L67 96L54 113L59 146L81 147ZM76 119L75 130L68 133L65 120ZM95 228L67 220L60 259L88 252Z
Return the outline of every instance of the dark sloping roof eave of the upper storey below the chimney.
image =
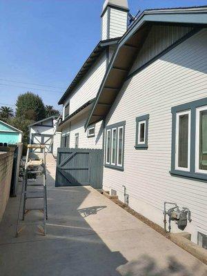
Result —
M106 40L99 41L95 49L92 50L92 53L90 54L88 59L86 59L85 63L83 63L83 66L81 67L81 69L79 70L79 72L77 73L73 81L70 83L70 86L68 86L66 92L64 92L58 104L62 104L66 100L70 92L72 92L72 90L74 90L74 88L78 85L79 81L81 81L81 79L83 79L83 77L86 76L86 73L88 72L88 70L90 70L93 64L100 57L103 50L105 50L110 45L116 44L119 41L119 39L120 37L117 37L115 39L106 39Z

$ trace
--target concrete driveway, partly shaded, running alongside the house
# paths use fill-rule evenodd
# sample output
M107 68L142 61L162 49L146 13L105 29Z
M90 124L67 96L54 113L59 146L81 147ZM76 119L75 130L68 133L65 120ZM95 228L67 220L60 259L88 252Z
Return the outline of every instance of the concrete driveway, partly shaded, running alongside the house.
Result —
M0 226L1 276L207 275L195 257L96 190L55 188L49 159L48 235L32 227L15 238L19 199L11 198Z

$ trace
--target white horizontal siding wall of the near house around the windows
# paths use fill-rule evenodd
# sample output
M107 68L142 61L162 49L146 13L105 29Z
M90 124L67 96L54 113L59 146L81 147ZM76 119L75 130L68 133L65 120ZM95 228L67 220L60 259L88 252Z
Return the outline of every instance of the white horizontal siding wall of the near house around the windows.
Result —
M117 190L124 201L122 185L125 185L130 206L161 226L164 201L187 206L193 221L186 230L192 233L194 242L197 230L207 231L207 183L169 173L171 108L207 97L206 87L207 29L204 29L128 80L106 118L106 126L126 120L126 134L124 172L104 168L103 188ZM135 118L146 114L150 115L148 150L135 150ZM178 231L175 224L173 227Z

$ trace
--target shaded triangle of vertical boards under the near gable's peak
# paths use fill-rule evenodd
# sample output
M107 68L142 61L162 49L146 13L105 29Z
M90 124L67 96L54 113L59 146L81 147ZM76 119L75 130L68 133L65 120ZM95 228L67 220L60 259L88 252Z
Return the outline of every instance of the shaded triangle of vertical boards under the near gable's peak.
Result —
M152 26L137 59L130 70L130 74L156 57L160 52L171 46L177 40L190 32L190 27L179 26Z

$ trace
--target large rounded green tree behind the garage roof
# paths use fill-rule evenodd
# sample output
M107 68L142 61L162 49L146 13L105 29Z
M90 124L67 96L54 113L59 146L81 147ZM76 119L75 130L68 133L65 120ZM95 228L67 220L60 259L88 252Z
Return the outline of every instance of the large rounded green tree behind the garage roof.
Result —
M32 92L19 95L16 106L17 117L24 117L25 119L34 121L46 118L46 108L41 97Z

